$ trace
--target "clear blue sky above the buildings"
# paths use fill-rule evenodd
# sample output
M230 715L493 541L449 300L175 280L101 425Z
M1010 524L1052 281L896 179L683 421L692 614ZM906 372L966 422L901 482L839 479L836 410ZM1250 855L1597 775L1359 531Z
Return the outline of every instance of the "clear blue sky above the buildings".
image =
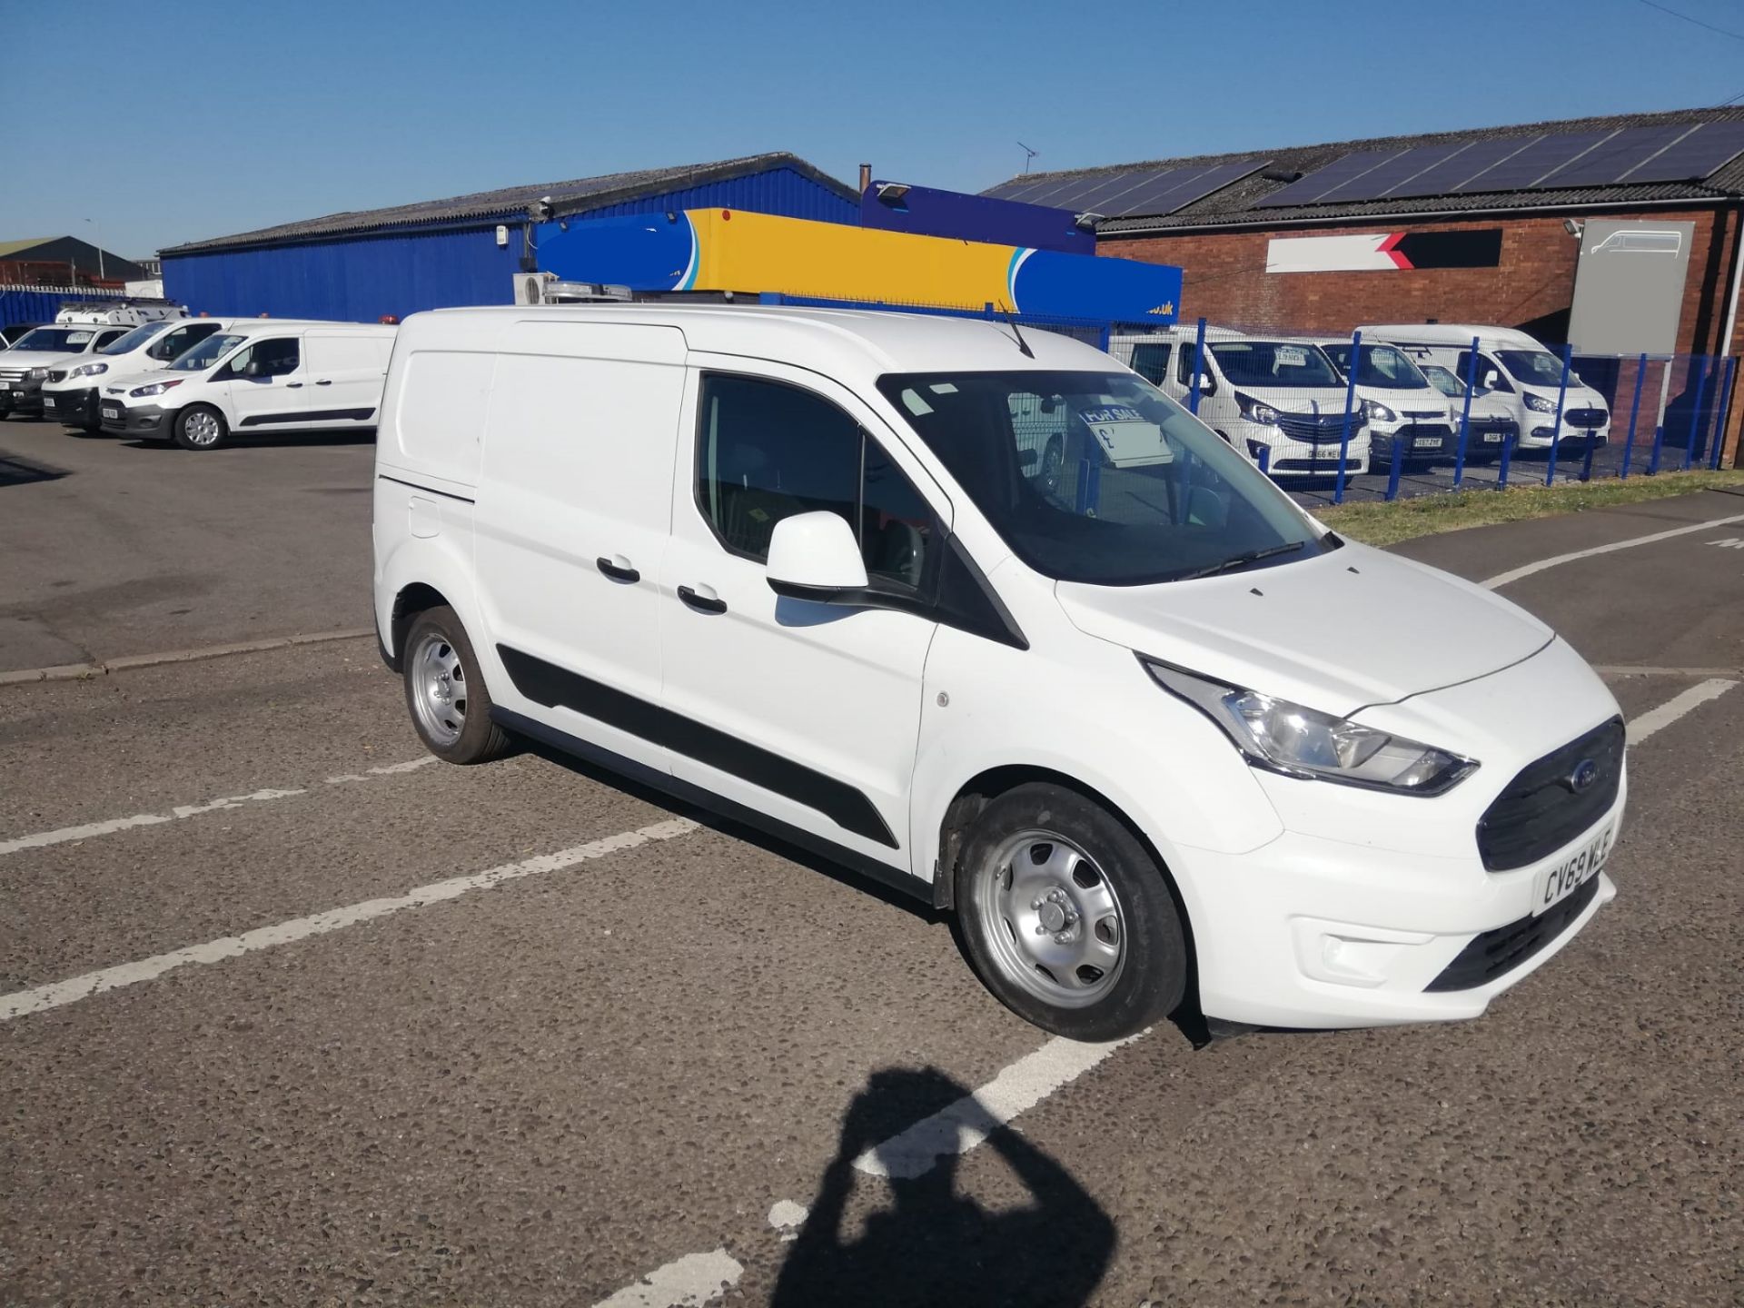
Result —
M1739 0L1664 3L1744 37ZM760 150L980 190L1018 140L1055 169L1686 108L1744 96L1741 37L1643 0L0 0L0 51L66 52L0 54L0 239L145 255Z

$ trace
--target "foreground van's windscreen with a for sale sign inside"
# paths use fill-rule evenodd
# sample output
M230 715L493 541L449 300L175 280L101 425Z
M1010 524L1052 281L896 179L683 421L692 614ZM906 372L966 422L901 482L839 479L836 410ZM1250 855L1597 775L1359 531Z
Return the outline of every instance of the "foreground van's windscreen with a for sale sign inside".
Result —
M879 391L1012 553L1057 581L1146 586L1339 544L1132 373L896 373Z

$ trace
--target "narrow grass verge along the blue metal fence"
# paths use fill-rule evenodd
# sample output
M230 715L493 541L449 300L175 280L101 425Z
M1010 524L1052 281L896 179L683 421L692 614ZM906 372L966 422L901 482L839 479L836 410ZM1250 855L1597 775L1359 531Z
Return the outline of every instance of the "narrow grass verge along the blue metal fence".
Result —
M1409 541L1413 535L1458 532L1465 527L1488 527L1489 523L1524 521L1526 518L1556 518L1564 513L1604 509L1611 504L1639 504L1648 499L1688 495L1695 490L1728 490L1735 487L1744 487L1744 467L1720 469L1716 473L1638 474L1627 481L1611 478L1606 481L1571 481L1557 487L1460 490L1446 495L1395 499L1392 504L1385 501L1336 504L1315 511L1315 516L1353 541L1385 546L1395 541Z

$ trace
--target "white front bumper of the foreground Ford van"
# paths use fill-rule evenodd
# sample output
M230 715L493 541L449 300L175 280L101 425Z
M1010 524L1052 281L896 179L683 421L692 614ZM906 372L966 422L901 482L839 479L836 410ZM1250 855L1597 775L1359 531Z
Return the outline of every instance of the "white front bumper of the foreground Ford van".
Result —
M1570 896L1578 903L1533 919L1549 870L1617 827L1625 799L1627 787L1577 839L1512 872L1486 872L1475 846L1428 856L1299 832L1247 855L1181 849L1200 1006L1207 1017L1277 1027L1477 1017L1615 898L1601 872L1589 882L1596 889ZM1474 970L1481 952L1502 970Z

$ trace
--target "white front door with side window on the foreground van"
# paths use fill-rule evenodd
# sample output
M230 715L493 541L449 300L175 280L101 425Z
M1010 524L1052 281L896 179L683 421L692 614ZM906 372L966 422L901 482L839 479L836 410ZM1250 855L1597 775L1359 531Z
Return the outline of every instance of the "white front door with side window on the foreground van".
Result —
M914 872L909 790L937 623L778 598L764 562L781 518L828 509L860 537L874 586L921 596L949 501L844 387L773 363L691 364L661 574L673 774Z

